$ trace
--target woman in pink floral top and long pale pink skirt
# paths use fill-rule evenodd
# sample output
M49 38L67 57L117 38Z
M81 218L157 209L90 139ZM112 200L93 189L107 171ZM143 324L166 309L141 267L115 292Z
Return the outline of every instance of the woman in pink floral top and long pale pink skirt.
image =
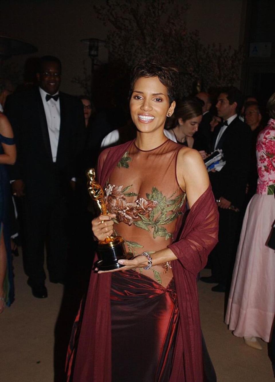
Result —
M271 118L256 145L257 194L246 209L225 317L233 334L256 349L257 337L270 341L275 313L275 253L266 245L275 219L275 93L267 108Z

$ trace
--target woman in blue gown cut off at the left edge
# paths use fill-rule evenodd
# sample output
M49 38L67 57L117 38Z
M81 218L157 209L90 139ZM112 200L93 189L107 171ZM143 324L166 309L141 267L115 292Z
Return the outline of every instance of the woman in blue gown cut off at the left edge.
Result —
M13 131L8 119L0 112L0 313L5 304L10 306L14 299L9 232L11 194L6 165L13 165L15 160Z

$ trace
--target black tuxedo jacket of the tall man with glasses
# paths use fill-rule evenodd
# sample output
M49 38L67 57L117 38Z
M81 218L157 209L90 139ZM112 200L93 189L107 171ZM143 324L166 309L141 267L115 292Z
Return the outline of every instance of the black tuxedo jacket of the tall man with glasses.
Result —
M85 123L80 100L60 94L60 133L57 160L52 161L50 139L39 88L16 92L8 97L5 112L14 130L18 151L11 179L22 179L26 197L43 202L63 197L70 179L76 176L84 149Z

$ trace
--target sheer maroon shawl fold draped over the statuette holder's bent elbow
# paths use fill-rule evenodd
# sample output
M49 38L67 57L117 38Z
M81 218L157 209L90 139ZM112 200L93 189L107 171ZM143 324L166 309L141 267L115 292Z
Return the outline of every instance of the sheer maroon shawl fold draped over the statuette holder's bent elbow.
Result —
M191 207L180 240L168 245L181 265L194 275L205 267L218 242L218 209L211 186Z

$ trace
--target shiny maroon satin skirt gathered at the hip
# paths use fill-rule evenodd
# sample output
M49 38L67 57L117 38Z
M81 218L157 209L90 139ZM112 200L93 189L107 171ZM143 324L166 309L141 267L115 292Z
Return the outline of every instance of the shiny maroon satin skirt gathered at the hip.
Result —
M167 288L134 270L114 272L111 285L112 382L167 382L173 363L178 303Z

